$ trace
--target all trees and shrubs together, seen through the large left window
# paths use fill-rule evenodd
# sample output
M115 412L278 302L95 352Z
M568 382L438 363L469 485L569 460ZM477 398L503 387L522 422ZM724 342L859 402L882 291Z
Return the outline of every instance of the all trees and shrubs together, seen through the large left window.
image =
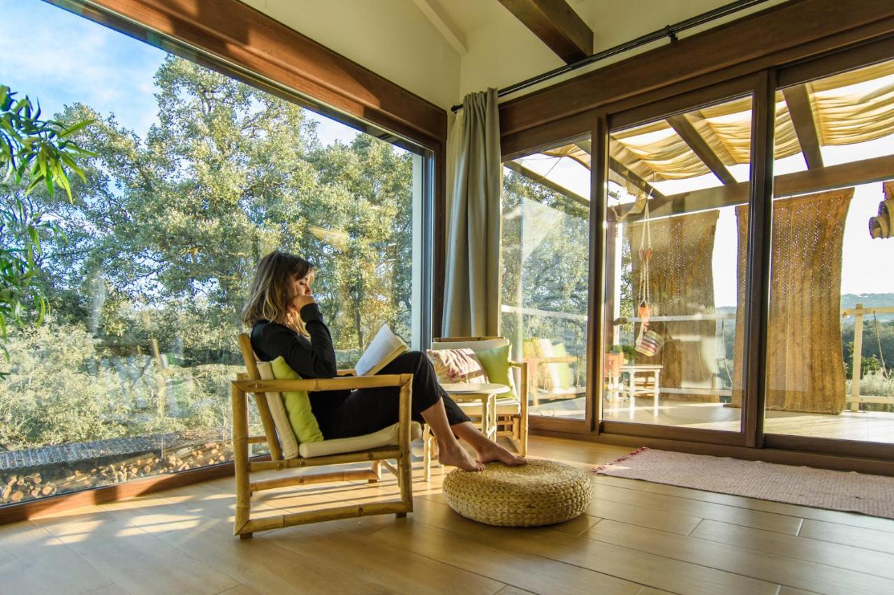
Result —
M324 146L299 105L173 56L155 85L144 135L89 105L57 115L93 122L66 136L89 155L72 200L36 185L19 217L64 241L40 232L54 311L11 336L0 449L225 427L240 309L274 249L316 265L341 365L382 323L409 335L412 155L365 134Z

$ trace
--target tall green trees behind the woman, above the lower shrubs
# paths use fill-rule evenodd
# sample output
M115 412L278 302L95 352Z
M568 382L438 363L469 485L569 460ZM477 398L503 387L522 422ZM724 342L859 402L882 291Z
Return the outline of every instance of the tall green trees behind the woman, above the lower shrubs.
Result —
M97 156L77 201L46 197L70 222L46 275L60 317L219 357L257 260L283 249L316 264L336 348L365 347L382 323L406 334L410 155L367 135L323 147L298 105L173 56L155 80L146 138L86 105L63 114L96 120L79 138Z

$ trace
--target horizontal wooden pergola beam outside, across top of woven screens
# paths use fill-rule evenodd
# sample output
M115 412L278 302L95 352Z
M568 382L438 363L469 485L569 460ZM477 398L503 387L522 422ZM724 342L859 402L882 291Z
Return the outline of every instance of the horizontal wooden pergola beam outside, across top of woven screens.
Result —
M786 173L774 178L773 197L789 197L890 180L894 175L892 172L894 172L894 155L830 165L806 172ZM718 186L675 194L663 199L654 198L649 204L649 213L652 217L666 217L723 206L744 205L748 202L748 186L749 182L738 182L734 186ZM613 219L614 213L617 213L625 222L636 221L641 215L625 216L632 206L628 204L614 207L613 212L609 211L609 219Z

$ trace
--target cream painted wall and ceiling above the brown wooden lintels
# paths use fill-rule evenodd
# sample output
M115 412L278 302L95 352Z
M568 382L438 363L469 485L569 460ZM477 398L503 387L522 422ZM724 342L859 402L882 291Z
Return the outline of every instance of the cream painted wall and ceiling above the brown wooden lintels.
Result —
M366 66L428 101L448 108L488 87L502 88L563 63L497 0L437 0L463 31L468 49L460 56L414 0L242 0L277 21ZM427 0L429 2L434 0ZM763 10L771 0L738 13ZM568 0L594 31L596 52L663 26L712 10L729 0ZM477 3L487 3L478 8ZM477 11L477 12L470 12ZM729 20L729 19L727 19ZM714 21L716 26L721 21ZM699 30L691 29L680 37ZM666 41L653 46L660 46ZM644 52L646 46L637 50ZM566 75L578 76L633 53ZM562 79L554 79L546 86Z

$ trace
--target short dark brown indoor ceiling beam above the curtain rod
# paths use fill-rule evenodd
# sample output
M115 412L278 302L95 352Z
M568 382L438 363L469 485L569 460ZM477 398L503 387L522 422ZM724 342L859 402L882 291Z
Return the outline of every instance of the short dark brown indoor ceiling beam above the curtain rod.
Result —
M566 63L593 54L593 29L565 0L500 0Z

